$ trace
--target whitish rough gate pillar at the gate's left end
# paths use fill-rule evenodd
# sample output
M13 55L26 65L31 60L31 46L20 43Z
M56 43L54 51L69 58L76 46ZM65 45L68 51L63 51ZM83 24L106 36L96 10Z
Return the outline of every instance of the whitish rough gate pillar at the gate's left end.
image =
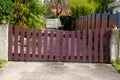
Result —
M0 60L8 61L8 24L0 24Z

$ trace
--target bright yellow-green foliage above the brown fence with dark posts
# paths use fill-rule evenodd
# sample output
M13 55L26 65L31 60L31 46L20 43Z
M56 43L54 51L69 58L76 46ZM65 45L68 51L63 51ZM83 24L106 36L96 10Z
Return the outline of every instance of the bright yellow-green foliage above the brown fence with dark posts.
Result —
M108 0L108 3L112 2L114 0ZM104 13L107 8L106 0L69 0L69 6L73 17Z

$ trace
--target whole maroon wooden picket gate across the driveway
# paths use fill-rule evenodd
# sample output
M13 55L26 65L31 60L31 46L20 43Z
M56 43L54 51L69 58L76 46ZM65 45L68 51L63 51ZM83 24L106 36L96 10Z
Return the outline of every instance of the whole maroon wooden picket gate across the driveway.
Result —
M9 61L110 62L111 30L33 30L9 27Z

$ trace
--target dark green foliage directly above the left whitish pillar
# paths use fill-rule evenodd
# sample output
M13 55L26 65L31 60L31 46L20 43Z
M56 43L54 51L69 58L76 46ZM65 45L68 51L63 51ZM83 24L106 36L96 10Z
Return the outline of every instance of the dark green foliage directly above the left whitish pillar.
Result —
M9 23L11 15L13 14L13 4L11 0L0 0L0 22Z

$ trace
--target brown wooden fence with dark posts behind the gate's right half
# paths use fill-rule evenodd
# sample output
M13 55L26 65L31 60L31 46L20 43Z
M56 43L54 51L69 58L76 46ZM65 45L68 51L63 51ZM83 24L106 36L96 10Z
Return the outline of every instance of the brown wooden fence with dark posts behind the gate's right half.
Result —
M78 30L88 30L95 28L113 28L116 25L120 28L120 13L119 14L91 14L76 18L75 27Z

